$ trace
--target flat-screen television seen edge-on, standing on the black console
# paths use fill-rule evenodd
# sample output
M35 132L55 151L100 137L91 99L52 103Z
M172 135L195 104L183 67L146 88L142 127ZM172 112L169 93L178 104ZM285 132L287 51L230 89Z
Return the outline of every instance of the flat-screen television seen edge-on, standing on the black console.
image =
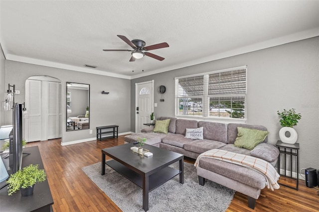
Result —
M9 167L12 172L22 165L22 105L16 103L12 111L13 129L9 135Z

